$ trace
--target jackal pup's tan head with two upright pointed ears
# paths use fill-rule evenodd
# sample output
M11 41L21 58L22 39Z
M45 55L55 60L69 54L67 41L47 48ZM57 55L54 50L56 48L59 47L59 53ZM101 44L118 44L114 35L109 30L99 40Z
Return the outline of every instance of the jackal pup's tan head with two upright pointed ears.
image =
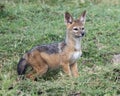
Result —
M85 19L86 19L86 11L84 11L81 16L74 20L73 17L66 12L65 13L65 24L67 26L67 35L73 38L83 37L85 34Z

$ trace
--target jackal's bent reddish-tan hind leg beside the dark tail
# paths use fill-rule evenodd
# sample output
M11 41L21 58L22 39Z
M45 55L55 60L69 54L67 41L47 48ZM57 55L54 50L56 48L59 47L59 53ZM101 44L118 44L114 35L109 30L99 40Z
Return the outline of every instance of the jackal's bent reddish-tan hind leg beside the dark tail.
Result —
M33 68L33 72L27 75L28 78L35 79L36 76L42 76L47 72L48 65L45 63L45 60L41 58L38 50L33 50L28 57L29 64Z

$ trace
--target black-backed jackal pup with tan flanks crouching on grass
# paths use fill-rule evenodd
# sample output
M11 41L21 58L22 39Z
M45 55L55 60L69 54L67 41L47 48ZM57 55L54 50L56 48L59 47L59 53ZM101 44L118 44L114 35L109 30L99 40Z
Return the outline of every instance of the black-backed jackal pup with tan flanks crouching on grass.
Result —
M62 67L67 75L78 77L76 61L82 55L81 39L85 33L86 11L77 20L74 20L68 12L65 13L64 18L67 28L65 40L60 43L36 46L25 53L17 66L19 75L25 74L26 66L30 65L33 70L26 74L26 77L33 80L37 75L45 74L48 69L59 67Z

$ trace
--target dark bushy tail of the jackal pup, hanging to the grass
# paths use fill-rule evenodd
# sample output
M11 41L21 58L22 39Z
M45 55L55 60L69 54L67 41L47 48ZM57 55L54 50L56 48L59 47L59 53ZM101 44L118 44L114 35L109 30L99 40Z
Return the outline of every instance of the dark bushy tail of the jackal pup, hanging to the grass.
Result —
M27 68L27 58L22 57L17 65L17 72L18 75L23 75L25 74L26 68Z

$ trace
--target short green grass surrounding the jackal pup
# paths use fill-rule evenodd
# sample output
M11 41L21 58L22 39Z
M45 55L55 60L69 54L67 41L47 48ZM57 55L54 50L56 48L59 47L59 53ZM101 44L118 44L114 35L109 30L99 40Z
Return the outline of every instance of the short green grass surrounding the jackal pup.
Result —
M120 54L119 0L11 0L0 2L0 96L119 96ZM1 7L4 6L4 7ZM51 72L33 82L18 80L20 57L39 44L65 37L63 14L78 17L87 10L79 78Z

